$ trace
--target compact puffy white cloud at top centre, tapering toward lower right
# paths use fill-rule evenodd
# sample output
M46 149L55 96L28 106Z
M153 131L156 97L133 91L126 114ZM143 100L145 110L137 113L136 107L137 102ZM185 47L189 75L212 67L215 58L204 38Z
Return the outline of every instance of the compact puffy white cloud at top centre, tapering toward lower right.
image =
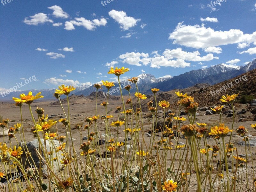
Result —
M118 22L118 24L120 24L120 28L124 30L128 30L129 28L136 26L136 23L140 21L140 19L127 17L126 12L124 11L116 11L114 9L108 12L108 15Z

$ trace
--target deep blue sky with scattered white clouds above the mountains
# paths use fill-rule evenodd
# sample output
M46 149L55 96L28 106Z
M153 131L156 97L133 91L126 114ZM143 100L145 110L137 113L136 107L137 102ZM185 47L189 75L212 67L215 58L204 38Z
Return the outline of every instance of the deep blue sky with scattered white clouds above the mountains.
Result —
M111 66L130 68L123 79L162 77L256 58L254 0L8 1L0 91L32 76L20 90L116 81Z

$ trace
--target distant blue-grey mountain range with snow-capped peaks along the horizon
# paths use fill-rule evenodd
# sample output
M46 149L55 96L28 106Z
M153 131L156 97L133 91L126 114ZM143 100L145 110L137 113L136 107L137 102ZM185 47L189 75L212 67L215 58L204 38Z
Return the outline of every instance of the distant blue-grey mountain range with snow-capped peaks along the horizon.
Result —
M233 77L239 76L243 73L256 69L256 59L252 62L248 63L245 66L232 66L226 65L224 63L218 64L209 68L205 69L196 69L184 74L180 74L178 76L164 76L160 78L156 78L151 74L142 73L138 76L138 87L139 92L143 94L151 94L151 88L158 88L160 91L170 91L172 89L184 89L195 84L209 84L214 85L225 80L231 79ZM125 80L121 82L122 89L124 86L130 84L132 86L131 92L137 91L135 84L131 84L131 82ZM119 85L115 83L116 89ZM56 87L57 88L57 87ZM110 89L113 90L113 89ZM53 94L55 89L43 89L43 90L28 90L34 92L42 92L44 95L44 99L53 99ZM24 91L25 93L28 91ZM92 92L95 92L95 87L91 86L77 86L76 90L72 93L75 95L84 95L88 96ZM107 93L107 89L105 86L102 86L104 93ZM123 94L128 94L126 90L123 90ZM5 97L0 97L0 100L11 100L12 97L18 97L19 92L11 92L10 94L6 95ZM118 89L112 95L120 95Z

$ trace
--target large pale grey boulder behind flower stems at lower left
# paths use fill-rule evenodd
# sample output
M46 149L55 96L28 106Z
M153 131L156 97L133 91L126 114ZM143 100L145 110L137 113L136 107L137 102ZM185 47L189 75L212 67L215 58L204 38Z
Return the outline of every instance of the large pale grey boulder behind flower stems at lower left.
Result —
M52 140L52 141L55 143L55 145L56 145L57 147L60 146L59 141L56 141L56 140ZM42 142L43 145L44 145L44 140L43 140L43 139L41 139L41 142ZM23 151L24 151L24 150L25 150L25 149L24 149L25 147L23 146L23 144L24 144L24 142L20 143L20 146L23 148ZM38 157L37 154L36 154L36 150L38 150L38 140L35 139L35 140L33 140L33 141L27 142L27 147L28 147L28 151L31 153L32 159L34 160L34 162L35 162L35 164L36 164L36 167L39 169L39 163L40 163L40 161L39 161L39 157ZM51 151L51 149L52 149L52 143L50 144L49 140L46 140L46 141L45 141L45 148L46 148L47 151ZM36 150L35 150L35 149L36 149ZM43 149L41 149L41 151L42 151L42 157L45 159L44 153L43 153ZM61 156L61 153L63 153L63 152L61 152L61 151L55 152L55 150L52 151L52 158L54 158L54 157L57 157L57 158L58 158L57 161L52 161L53 167L54 167L52 170L53 170L55 173L56 173L56 170L57 170L57 172L60 171L60 169L59 169L60 167L59 167L59 165L58 165L58 161L60 161L60 159L63 158L63 157ZM30 162L32 162L30 157L28 157L28 159L29 159ZM24 166L25 169L26 169L27 167L31 166L31 165L28 164L28 160L27 160L27 157L26 157L25 153L23 153L23 154L21 155L21 161L22 161L22 164L23 164L23 166ZM41 165L41 167L42 167L42 174L43 174L44 178L47 178L47 177L48 177L47 166L46 166L46 164L44 164L43 161L41 161L41 163L42 163L42 165Z

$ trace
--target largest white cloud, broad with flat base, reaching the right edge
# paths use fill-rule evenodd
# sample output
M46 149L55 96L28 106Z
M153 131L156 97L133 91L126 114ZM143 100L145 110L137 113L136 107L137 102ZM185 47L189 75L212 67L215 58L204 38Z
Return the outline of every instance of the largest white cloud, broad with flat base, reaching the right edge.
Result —
M199 25L183 25L180 22L175 30L170 34L169 39L173 44L180 44L196 49L215 47L227 44L253 43L256 44L256 32L253 34L244 34L239 29L230 29L229 31L215 31L212 28Z

